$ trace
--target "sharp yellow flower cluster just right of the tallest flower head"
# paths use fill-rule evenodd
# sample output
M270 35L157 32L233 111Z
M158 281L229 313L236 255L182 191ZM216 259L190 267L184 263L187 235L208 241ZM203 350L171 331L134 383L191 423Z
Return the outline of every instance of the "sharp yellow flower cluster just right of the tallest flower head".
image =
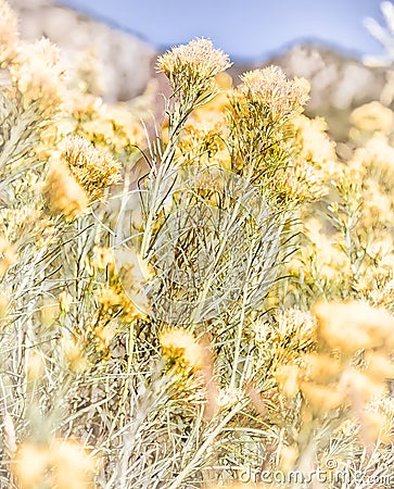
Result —
M254 163L254 172L270 175L274 159L277 163L274 171L288 163L288 159L283 162L281 153L288 153L284 141L292 138L294 131L287 123L303 111L308 100L308 84L288 80L276 66L247 72L242 79L243 84L228 92L230 141L239 151L236 167L246 166L247 172L257 160L267 168L256 167Z

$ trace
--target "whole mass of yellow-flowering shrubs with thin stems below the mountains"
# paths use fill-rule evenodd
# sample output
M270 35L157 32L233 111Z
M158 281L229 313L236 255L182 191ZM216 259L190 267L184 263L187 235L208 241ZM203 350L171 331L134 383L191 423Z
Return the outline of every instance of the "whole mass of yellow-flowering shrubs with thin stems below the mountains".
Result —
M340 161L306 80L233 88L195 39L150 127L16 25L0 0L2 487L391 487L393 112Z

